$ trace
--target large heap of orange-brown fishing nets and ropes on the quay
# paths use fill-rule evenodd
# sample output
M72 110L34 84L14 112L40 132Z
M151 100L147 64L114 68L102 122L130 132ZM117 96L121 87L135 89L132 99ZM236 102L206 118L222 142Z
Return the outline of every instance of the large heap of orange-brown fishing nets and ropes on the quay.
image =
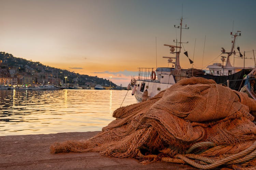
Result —
M213 80L182 79L148 101L120 107L86 141L54 143L52 153L189 164L200 169L256 166L256 101Z

